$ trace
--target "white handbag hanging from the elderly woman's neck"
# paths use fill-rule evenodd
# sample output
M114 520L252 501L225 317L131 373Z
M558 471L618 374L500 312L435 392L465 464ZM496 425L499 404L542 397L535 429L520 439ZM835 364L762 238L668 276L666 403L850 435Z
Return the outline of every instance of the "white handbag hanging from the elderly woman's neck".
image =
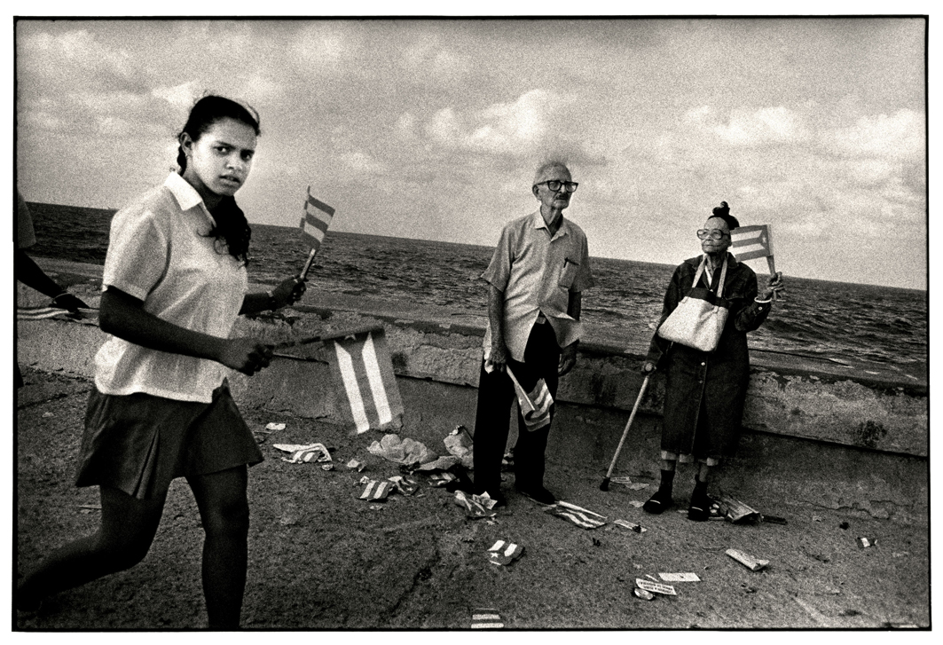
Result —
M706 256L701 260L698 273L694 275L693 287L674 308L670 316L658 327L658 336L663 339L692 347L702 352L717 349L720 334L730 313L730 301L724 300L723 281L727 277L727 258L723 258L720 284L715 294L710 289L698 287L704 271Z

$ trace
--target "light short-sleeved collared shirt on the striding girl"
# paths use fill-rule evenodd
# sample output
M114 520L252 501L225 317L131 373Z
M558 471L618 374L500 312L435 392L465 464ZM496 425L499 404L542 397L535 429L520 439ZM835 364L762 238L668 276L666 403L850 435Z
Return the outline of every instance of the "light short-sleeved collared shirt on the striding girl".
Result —
M102 290L121 289L167 322L228 338L245 297L245 267L207 237L212 216L179 174L149 190L111 220ZM222 253L220 252L222 251ZM109 337L95 355L104 394L146 392L179 401L212 401L229 373L204 358L147 349Z

